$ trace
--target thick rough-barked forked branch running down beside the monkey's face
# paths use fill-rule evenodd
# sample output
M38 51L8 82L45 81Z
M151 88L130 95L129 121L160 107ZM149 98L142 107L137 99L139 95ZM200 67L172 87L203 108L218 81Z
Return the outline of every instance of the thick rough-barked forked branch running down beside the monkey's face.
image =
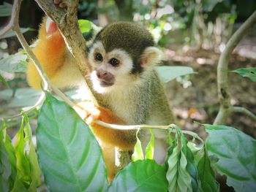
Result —
M92 92L91 82L86 78L86 75L91 72L91 66L87 61L86 40L83 38L78 26L78 0L69 1L67 10L56 6L53 0L35 1L37 1L37 4L42 8L45 14L57 24L70 53L72 53L75 58L75 64L78 64L81 74L85 77L91 94L91 100L94 104L99 105L99 94Z

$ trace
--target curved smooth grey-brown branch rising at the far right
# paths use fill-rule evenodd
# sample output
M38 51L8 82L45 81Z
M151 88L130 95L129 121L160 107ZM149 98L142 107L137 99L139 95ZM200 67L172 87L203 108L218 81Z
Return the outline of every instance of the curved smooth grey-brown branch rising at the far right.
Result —
M218 97L219 97L219 113L214 120L214 124L225 124L227 117L230 113L230 92L227 85L227 72L228 72L228 61L234 48L241 41L244 34L248 29L256 23L256 11L238 28L233 36L227 42L227 46L223 53L220 55L219 63L217 67L217 84L218 84Z

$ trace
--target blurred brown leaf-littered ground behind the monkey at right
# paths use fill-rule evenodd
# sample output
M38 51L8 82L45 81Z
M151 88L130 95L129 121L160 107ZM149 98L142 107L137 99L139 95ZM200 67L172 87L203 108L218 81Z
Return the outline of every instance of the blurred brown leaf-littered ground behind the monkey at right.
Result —
M248 45L246 45L248 47ZM238 55L238 51L246 53L246 47L241 46L236 54L230 58L229 70L241 67L256 66L255 53L251 58ZM252 49L250 49L252 50ZM166 50L165 52L173 66L191 66L197 74L190 75L192 82L188 88L183 88L181 82L173 80L167 84L167 95L178 115L181 126L196 131L201 136L204 132L198 131L200 123L213 123L219 110L217 97L217 63L219 54L211 50L188 50L187 53L177 54L178 51ZM253 58L254 57L254 58ZM241 77L236 73L229 73L229 88L233 105L246 107L256 114L256 82ZM246 134L256 137L256 122L243 114L233 114L228 118L227 125L238 128Z

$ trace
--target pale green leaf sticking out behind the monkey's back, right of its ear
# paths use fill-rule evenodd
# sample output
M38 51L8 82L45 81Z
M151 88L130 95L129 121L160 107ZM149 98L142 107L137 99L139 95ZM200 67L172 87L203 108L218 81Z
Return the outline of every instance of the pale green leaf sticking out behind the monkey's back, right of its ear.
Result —
M195 73L189 66L157 66L157 72L163 82L169 82L176 77Z

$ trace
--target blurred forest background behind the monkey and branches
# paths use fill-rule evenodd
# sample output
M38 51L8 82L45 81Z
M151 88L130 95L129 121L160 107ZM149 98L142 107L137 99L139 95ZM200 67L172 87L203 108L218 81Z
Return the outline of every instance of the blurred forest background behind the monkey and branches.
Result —
M9 20L12 1L0 1L0 27ZM165 53L168 66L190 66L196 74L178 77L166 84L167 96L180 125L206 137L200 123L213 123L219 110L217 98L217 63L227 40L256 9L255 0L98 0L80 1L78 18L105 26L117 20L141 23L153 34L155 42ZM4 10L4 11L3 11ZM44 12L32 0L23 0L20 26L26 40L37 38ZM0 39L0 59L20 50L13 34ZM13 59L13 58L12 58ZM25 58L26 59L26 58ZM1 63L3 64L3 63ZM8 64L9 65L9 64ZM26 62L18 72L2 72L8 85L0 82L0 115L20 112L28 100L38 97L26 83ZM256 26L239 42L230 58L230 71L256 66ZM19 65L20 67L20 65ZM233 105L243 106L256 113L256 83L238 74L229 73ZM32 94L32 96L31 96ZM33 95L35 94L35 95ZM33 97L34 96L34 97ZM37 113L34 114L37 117ZM31 121L33 126L33 121ZM19 126L20 122L9 123ZM256 122L240 114L233 114L227 125L256 137ZM12 134L12 133L11 133ZM223 191L223 190L222 190ZM231 190L232 191L232 190Z

